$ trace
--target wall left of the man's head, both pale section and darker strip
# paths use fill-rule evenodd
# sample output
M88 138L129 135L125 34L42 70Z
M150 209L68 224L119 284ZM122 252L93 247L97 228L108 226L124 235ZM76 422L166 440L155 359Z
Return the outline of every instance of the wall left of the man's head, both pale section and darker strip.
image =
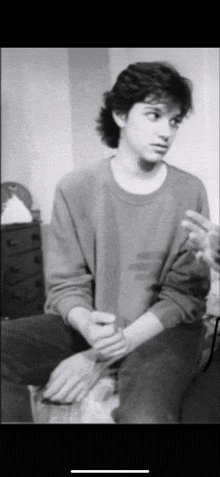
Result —
M107 48L2 48L1 182L26 186L44 223L58 180L109 154L95 132L109 85Z

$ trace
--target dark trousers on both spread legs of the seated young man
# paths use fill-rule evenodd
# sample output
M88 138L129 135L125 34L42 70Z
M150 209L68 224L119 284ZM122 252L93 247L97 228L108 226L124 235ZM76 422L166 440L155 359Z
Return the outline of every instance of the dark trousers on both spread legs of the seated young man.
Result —
M124 358L119 367L117 423L179 423L184 390L198 364L201 322L166 329ZM2 324L2 423L33 422L27 385L45 385L54 368L89 348L55 315Z

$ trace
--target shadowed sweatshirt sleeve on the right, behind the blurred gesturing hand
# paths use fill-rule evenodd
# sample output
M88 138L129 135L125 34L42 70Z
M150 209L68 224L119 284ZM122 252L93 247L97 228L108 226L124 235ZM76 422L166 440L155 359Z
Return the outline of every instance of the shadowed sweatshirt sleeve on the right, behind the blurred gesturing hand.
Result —
M189 207L190 208L190 207ZM196 211L209 218L207 194L200 187ZM193 323L206 311L206 296L210 289L210 269L203 260L197 260L186 232L171 267L159 286L158 301L150 308L165 328L178 323Z

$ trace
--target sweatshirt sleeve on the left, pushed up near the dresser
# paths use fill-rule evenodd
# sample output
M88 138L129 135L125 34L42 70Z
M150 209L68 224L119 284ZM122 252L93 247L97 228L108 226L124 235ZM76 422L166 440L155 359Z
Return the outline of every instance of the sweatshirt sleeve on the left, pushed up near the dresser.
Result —
M92 282L73 213L58 185L49 231L45 313L59 314L66 321L68 312L76 306L92 310Z

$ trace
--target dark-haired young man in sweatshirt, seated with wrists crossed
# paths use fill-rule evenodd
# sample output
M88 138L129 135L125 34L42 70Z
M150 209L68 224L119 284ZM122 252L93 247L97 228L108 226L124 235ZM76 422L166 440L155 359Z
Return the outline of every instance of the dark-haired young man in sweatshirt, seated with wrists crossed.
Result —
M81 401L117 361L118 423L178 423L200 356L208 266L181 227L208 217L201 181L164 161L192 109L190 82L135 63L104 96L98 131L115 153L57 186L46 315L3 325L3 421L31 421L26 385ZM5 397L6 396L6 397Z

